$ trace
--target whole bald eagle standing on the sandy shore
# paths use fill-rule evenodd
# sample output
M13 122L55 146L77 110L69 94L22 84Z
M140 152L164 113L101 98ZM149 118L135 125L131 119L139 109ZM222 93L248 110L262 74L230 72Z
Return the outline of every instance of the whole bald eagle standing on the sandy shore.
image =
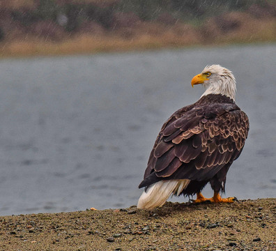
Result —
M192 86L206 91L192 105L174 112L162 126L151 151L138 208L162 206L171 195L197 194L202 201L233 202L220 197L227 172L243 151L249 121L235 103L236 79L227 68L206 66L192 78ZM201 194L210 182L212 198Z

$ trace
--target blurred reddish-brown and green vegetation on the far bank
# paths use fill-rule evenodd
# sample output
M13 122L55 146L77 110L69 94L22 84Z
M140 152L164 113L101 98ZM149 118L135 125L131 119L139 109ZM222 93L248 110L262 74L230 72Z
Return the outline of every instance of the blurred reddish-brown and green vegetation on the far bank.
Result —
M217 43L218 36L246 30L251 21L258 36L242 36L241 42L275 40L275 18L276 0L1 0L0 45L7 48L15 40L61 43L84 34L155 44L145 36L165 34L170 45L189 44L187 38L190 44ZM268 28L263 20L269 20Z

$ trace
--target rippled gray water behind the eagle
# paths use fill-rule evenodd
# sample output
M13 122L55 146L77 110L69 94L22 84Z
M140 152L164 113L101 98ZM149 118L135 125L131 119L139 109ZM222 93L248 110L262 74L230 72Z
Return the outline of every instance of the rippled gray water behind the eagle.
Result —
M275 55L255 45L0 61L0 215L136 204L162 123L198 100L190 80L213 63L236 75L250 118L226 196L275 197Z

